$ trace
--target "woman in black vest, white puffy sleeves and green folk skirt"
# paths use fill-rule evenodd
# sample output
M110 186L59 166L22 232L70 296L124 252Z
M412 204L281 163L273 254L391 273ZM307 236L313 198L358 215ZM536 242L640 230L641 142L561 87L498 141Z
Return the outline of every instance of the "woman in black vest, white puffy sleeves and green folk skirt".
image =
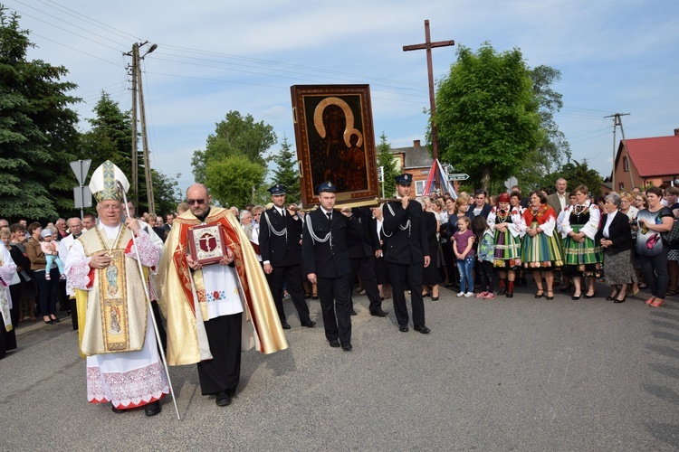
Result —
M589 202L588 188L579 185L573 190L577 203L564 216L561 224L561 235L566 257L564 272L573 278L575 285L574 300L582 295L582 278L588 280L588 291L585 298L596 297L597 278L601 276L603 256L601 248L594 241L598 232L601 211L594 202Z

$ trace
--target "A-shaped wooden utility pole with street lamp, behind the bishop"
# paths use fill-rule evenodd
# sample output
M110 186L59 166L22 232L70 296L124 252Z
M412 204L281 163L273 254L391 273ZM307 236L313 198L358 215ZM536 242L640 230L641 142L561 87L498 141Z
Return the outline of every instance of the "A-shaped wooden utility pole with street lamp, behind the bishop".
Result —
M139 118L141 123L141 146L144 158L144 176L146 177L146 194L148 202L148 212L156 212L156 202L153 197L153 181L151 179L151 162L148 158L148 137L146 130L146 111L144 109L144 90L141 82L141 65L139 62L144 59L148 53L155 51L158 44L153 44L148 48L148 51L142 56L139 56L139 48L148 44L147 42L135 42L132 44L132 52L125 53L132 57L132 187L134 191L135 201L139 203L139 148L138 148L138 133L137 133L137 105L139 100Z

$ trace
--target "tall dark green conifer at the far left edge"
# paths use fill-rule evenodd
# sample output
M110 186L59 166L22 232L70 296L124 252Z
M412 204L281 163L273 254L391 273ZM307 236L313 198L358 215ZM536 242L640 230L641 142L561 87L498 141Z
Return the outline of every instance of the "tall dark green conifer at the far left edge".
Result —
M61 81L64 67L26 60L29 32L5 11L0 5L0 212L54 221L75 213L78 116L69 106L81 99L67 94L76 85Z

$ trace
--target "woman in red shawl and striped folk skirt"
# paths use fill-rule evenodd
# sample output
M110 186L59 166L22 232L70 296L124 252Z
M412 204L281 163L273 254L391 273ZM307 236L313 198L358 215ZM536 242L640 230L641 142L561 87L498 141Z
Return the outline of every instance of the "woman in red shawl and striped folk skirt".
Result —
M526 235L521 246L523 267L533 272L533 280L538 286L536 298L545 295L542 287L542 274L547 282L547 299L554 299L554 270L563 265L563 251L558 234L554 231L557 212L547 203L547 196L540 190L531 193L530 205L523 211Z

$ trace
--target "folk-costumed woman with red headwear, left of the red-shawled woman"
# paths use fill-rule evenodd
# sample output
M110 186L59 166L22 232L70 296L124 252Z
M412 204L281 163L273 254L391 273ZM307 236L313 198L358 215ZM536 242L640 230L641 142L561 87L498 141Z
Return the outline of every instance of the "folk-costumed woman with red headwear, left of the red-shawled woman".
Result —
M516 270L521 268L521 237L526 231L526 224L521 217L521 207L510 205L508 193L500 194L497 203L497 207L488 214L488 226L494 231L495 240L493 266L500 274L498 295L512 298Z

